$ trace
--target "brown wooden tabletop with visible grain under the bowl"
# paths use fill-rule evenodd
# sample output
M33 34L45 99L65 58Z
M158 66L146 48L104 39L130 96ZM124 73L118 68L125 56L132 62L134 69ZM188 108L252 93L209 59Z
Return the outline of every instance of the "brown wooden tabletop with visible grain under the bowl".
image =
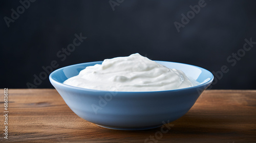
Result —
M9 89L8 111L8 139L0 120L2 142L256 142L256 90L206 90L166 125L167 133L98 127L73 113L55 89Z

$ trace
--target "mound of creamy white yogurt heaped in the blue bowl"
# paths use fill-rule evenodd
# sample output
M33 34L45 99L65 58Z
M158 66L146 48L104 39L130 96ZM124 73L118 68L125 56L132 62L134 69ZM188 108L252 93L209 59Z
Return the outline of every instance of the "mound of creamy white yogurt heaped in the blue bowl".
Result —
M177 69L170 69L140 54L105 59L88 66L64 84L109 91L161 91L196 85Z

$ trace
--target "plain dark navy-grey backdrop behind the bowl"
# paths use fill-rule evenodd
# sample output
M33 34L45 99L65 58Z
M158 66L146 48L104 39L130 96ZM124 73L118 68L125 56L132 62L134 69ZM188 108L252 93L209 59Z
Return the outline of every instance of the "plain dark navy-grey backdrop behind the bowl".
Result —
M256 89L256 45L234 66L227 61L243 48L245 38L256 41L256 1L205 1L178 32L174 22L198 2L124 0L113 11L109 1L35 1L8 28L4 17L11 18L11 9L21 4L1 1L0 87L28 88L33 75L53 60L59 68L140 53L209 71L226 65L228 73L212 89ZM73 42L75 33L87 39L61 61L56 54ZM47 78L37 88L53 86Z

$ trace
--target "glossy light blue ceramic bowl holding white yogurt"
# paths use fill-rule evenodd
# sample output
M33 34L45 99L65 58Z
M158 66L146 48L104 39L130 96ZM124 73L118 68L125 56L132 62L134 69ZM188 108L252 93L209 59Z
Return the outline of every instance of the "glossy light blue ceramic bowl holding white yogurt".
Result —
M70 109L86 121L118 130L151 129L183 116L214 79L210 71L198 66L156 62L182 70L200 84L182 89L145 92L115 92L63 84L87 66L101 64L102 61L59 68L51 73L49 79Z

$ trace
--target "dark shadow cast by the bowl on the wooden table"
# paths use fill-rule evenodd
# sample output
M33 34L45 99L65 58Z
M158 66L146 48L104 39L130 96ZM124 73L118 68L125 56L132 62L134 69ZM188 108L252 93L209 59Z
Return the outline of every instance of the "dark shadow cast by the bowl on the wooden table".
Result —
M170 136L193 136L193 135L225 135L233 134L233 129L228 125L235 122L234 118L225 116L203 115L203 114L186 114L177 121L165 124L162 127L141 130L141 131L119 131L103 129L103 132L115 134L120 137L133 137L140 139L155 138L160 139ZM100 127L99 127L100 128Z

